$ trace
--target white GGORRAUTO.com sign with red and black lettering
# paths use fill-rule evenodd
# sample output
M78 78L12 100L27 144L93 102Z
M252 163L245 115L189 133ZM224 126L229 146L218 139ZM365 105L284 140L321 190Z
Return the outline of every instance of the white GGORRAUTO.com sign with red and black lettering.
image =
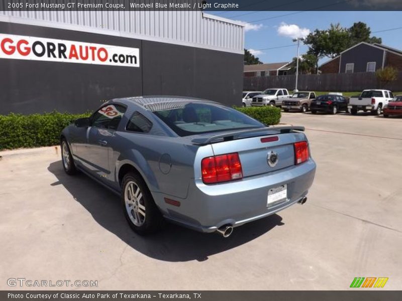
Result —
M0 34L0 59L140 67L138 48Z

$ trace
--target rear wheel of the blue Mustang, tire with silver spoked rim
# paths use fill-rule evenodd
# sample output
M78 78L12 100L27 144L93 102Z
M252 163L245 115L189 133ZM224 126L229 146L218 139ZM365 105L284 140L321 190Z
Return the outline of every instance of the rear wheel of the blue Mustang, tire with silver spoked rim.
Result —
M121 201L124 216L137 234L147 235L162 228L162 214L140 175L130 172L124 176Z

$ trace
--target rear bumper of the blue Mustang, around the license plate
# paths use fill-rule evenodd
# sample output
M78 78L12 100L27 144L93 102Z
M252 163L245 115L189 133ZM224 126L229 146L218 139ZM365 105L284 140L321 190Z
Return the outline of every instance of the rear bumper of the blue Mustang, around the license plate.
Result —
M240 181L205 185L196 179L180 207L169 206L165 218L185 227L214 232L230 224L234 227L264 218L283 210L307 195L312 186L316 164L309 161L267 175L247 177ZM287 185L287 199L267 207L271 188Z

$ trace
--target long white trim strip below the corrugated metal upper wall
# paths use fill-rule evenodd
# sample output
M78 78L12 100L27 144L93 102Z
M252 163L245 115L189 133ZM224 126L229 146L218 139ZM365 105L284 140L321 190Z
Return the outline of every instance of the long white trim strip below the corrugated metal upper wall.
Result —
M79 32L100 34L100 35L107 35L107 36L117 36L117 37L123 37L123 38L160 42L160 43L188 46L188 47L194 47L194 48L210 49L210 50L229 52L229 53L235 53L235 54L244 54L243 49L242 50L227 49L227 48L216 47L216 46L211 46L211 45L182 42L179 40L162 39L162 38L151 37L151 36L147 36L147 35L129 34L129 33L125 33L122 31L115 31L115 30L109 30L109 29L97 29L97 28L93 28L93 27L82 27L79 25L56 23L56 22L43 21L43 20L33 20L33 19L29 19L29 18L0 15L0 22L17 23L17 24L33 25L33 26L41 26L41 27L50 27L50 28L55 28L55 29L79 31Z

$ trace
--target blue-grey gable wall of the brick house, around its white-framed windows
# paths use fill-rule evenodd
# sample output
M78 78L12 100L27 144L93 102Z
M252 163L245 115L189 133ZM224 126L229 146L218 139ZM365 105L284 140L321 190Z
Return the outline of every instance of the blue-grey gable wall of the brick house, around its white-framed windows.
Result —
M361 44L341 55L341 72L345 73L346 64L354 63L354 73L366 72L367 62L376 62L375 70L382 68L382 59L384 51L376 47Z

